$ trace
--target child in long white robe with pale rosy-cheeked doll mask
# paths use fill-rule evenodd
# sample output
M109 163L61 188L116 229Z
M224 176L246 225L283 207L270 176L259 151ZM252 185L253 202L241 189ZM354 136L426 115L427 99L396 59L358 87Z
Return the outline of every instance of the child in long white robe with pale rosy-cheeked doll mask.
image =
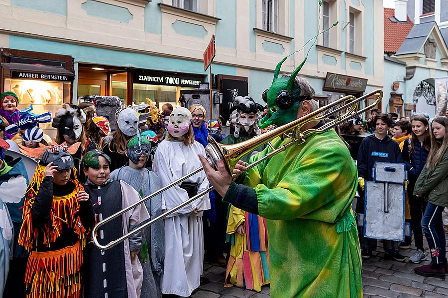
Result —
M168 135L157 147L154 171L162 185L167 185L200 166L198 153L204 147L194 140L191 112L180 107L169 119ZM162 193L162 209L170 210L209 187L201 171ZM202 215L210 209L206 194L164 219L165 263L162 294L189 297L200 285L204 262Z

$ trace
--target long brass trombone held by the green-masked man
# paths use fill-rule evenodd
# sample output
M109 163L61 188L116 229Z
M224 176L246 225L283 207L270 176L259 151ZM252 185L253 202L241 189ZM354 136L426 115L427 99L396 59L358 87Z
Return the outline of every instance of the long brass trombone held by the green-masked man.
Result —
M361 101L364 101L374 95L378 95L378 97L375 99L375 101L373 103L365 106L362 109L357 110L359 103ZM360 114L372 109L373 107L375 107L378 104L378 102L381 101L382 97L383 97L383 91L379 90L379 89L371 91L371 92L364 94L363 96L358 97L358 98L356 98L352 95L347 95L347 96L341 97L341 98L337 99L336 101L331 102L331 103L317 109L314 112L311 112L299 119L296 119L288 124L277 127L277 128L272 129L264 134L261 134L259 136L251 138L244 142L233 144L233 145L219 144L218 142L215 141L215 139L213 139L211 136L209 136L207 139L208 145L205 148L207 161L214 168L217 168L218 160L220 160L220 159L223 160L227 172L231 174L231 170L233 169L235 164L238 162L238 160L241 159L241 157L252 152L256 148L267 144L270 147L270 149L272 149L272 151L268 152L265 156L258 159L257 161L246 166L246 170L250 169L250 168L254 167L255 165L270 158L271 156L284 151L285 149L289 148L292 145L298 146L298 145L305 143L306 139L314 134L321 134L321 133L323 133L329 129L332 129L332 128L336 127L337 125L339 125L357 115L360 115ZM324 120L327 117L334 115L334 114L336 114L335 119L328 123L325 123L321 127L316 128L316 129L313 129L313 128L308 129L304 132L300 131L302 126L304 126L305 124L310 123L310 122ZM291 142L286 143L286 144L280 146L279 148L274 148L274 146L271 145L270 141L273 140L274 138L277 138L280 136L289 138L291 140ZM144 202L151 199L152 197L164 192L168 188L171 188L171 187L181 183L185 179L199 173L203 169L204 169L204 167L202 167L202 166L197 168L196 170L188 173L187 175L185 175L185 176L171 182L170 184L166 185L165 187L162 187L161 189L153 192L149 196L142 198L138 202L135 202L134 204L129 205L126 208L122 209L121 211L100 221L98 224L96 224L94 226L94 228L92 230L92 240L93 240L95 246L97 246L102 251L110 249L113 246L117 245L118 243L131 237L135 233L138 233L139 231L150 226L151 224L154 224L154 223L164 219L168 215L176 212L177 210L181 209L182 207L190 204L191 202L197 200L198 198L200 198L200 197L204 196L205 194L209 193L210 191L212 191L213 187L207 188L203 192L189 198L188 200L177 205L173 209L166 211L165 213L159 215L158 217L150 220L149 222L147 222L145 224L139 225L135 229L129 231L127 234L117 238L116 240L112 240L111 242L109 242L106 245L102 245L98 241L97 231L102 225L109 223L113 219L121 216L123 213L133 209L134 207L136 207L140 204L143 204ZM232 175L232 177L235 177L235 176L236 176L235 174Z

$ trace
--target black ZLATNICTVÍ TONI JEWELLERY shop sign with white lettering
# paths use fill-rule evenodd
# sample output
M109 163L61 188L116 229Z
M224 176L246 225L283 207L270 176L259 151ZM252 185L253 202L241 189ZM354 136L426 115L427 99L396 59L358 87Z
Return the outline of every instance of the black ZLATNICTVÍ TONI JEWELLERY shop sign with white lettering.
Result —
M190 76L188 74L134 72L134 83L137 84L199 87L199 84L202 82L204 82L203 77Z

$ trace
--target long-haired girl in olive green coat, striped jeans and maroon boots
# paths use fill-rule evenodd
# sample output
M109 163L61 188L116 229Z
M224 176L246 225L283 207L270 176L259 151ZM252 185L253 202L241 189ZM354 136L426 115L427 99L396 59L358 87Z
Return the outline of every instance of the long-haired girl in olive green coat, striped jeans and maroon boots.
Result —
M444 278L448 269L442 222L442 212L448 207L448 118L434 118L431 127L431 149L417 179L414 195L428 200L422 228L431 250L432 262L414 271L423 276Z

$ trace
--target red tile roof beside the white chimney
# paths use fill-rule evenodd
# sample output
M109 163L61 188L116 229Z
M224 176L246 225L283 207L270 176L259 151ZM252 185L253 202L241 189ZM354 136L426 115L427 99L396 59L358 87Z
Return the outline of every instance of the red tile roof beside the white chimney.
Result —
M384 8L384 53L397 52L414 26L409 16L407 23L392 22L389 18L393 17L394 13L394 8Z

